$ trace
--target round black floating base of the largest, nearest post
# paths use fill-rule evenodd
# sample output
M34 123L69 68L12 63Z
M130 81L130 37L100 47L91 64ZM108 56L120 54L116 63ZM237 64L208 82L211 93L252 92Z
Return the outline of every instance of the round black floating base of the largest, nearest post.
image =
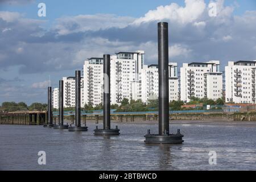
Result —
M145 143L170 143L170 144L181 144L184 142L182 134L166 134L166 135L155 135L147 134L144 135L146 140Z

